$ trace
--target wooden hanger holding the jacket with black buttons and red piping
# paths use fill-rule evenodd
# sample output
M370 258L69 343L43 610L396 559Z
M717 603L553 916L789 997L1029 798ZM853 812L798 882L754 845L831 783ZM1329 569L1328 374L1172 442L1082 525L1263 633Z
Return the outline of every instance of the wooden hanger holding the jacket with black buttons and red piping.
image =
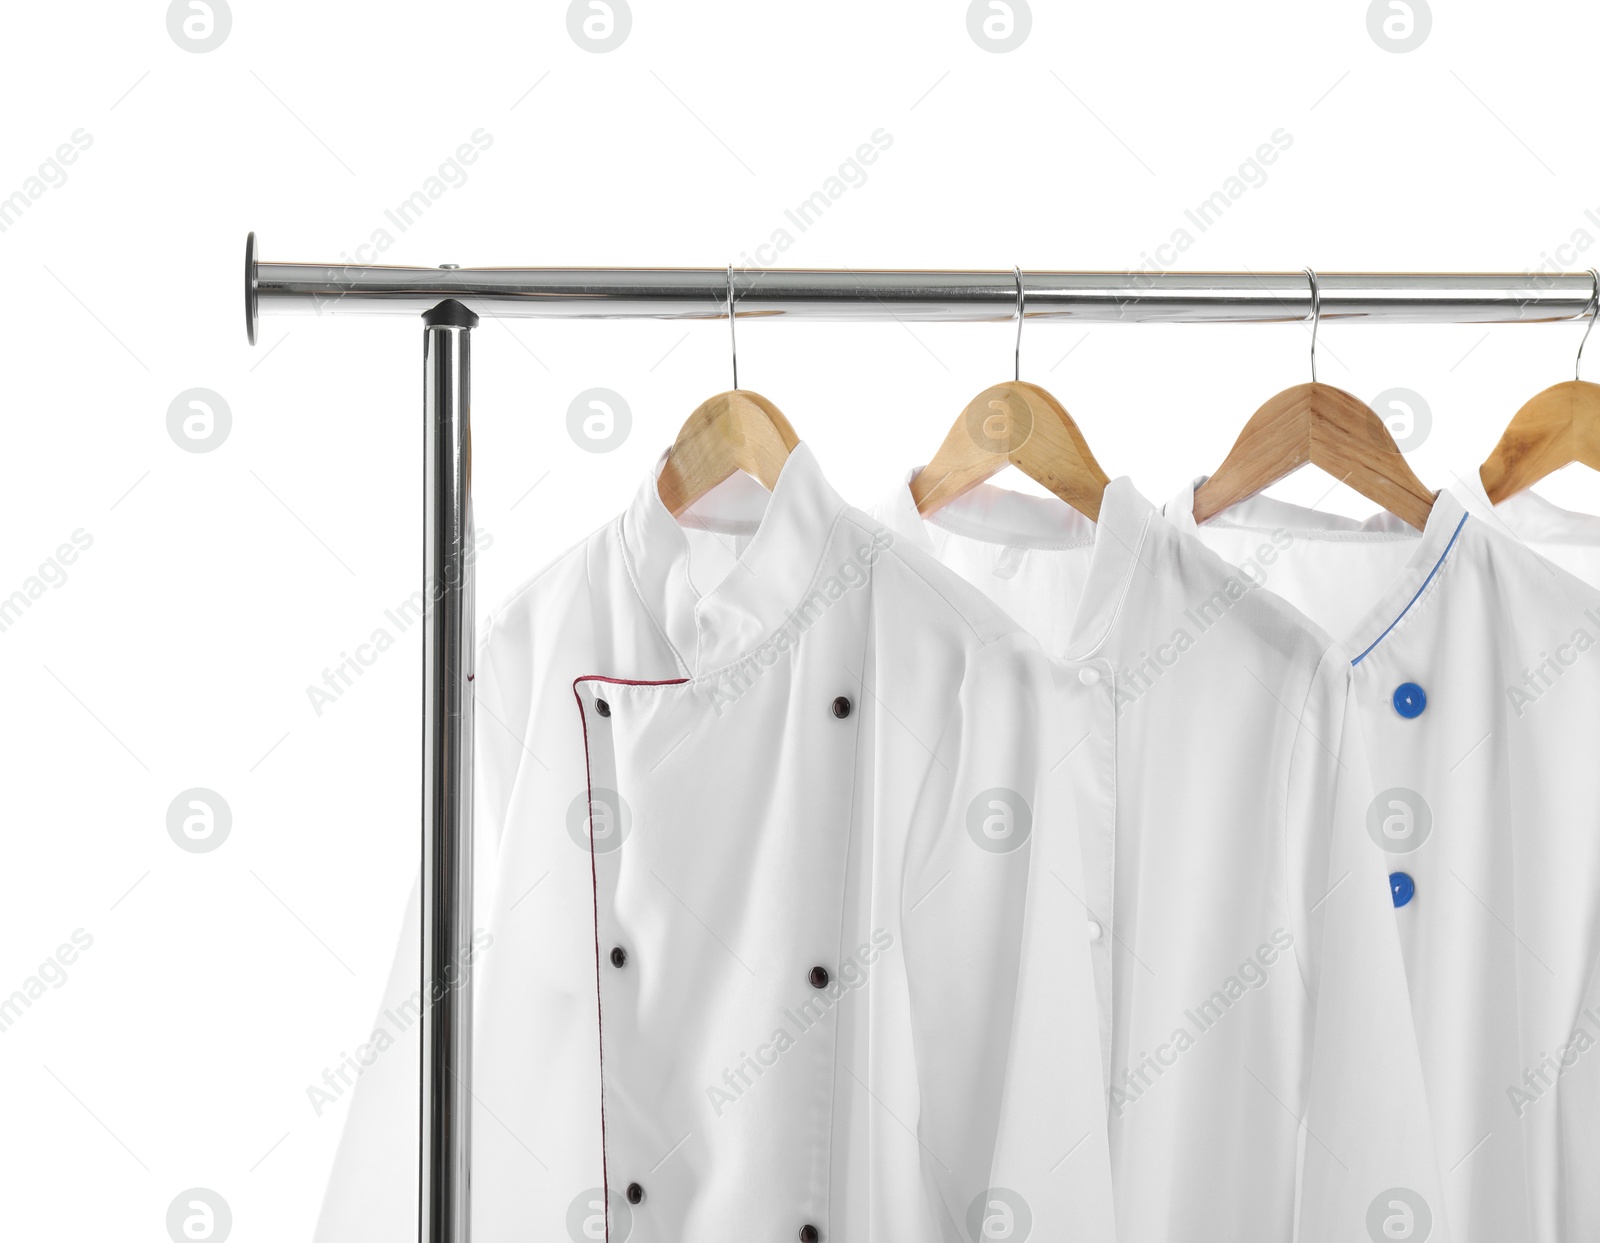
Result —
M733 264L728 264L728 336L733 339L733 389L694 408L683 421L667 461L656 477L656 494L672 517L699 501L734 470L754 477L766 491L778 486L795 429L771 402L739 387L739 342L734 338Z

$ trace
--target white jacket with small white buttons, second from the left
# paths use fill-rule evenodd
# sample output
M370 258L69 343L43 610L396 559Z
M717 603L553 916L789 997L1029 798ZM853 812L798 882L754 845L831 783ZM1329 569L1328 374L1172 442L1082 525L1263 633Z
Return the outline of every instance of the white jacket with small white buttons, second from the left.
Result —
M1392 1189L1438 1203L1342 654L1125 478L1098 525L987 485L877 514L1058 657L1118 1237L1366 1238Z

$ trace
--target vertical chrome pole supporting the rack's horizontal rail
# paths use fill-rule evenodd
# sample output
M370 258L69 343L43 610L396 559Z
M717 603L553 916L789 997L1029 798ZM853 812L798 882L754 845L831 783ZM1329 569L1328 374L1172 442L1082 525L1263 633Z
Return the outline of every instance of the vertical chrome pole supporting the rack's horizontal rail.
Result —
M422 1150L419 1243L467 1243L472 1160L472 354L478 317L422 317Z

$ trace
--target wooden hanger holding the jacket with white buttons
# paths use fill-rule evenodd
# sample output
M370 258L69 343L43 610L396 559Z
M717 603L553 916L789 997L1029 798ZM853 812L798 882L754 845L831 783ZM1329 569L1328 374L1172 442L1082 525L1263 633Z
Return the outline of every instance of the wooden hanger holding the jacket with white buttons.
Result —
M1016 373L1021 374L1026 312L1021 269L1016 299ZM933 461L910 482L917 512L928 517L1006 466L1018 467L1091 522L1099 522L1101 498L1110 478L1066 406L1022 379L995 384L966 403Z

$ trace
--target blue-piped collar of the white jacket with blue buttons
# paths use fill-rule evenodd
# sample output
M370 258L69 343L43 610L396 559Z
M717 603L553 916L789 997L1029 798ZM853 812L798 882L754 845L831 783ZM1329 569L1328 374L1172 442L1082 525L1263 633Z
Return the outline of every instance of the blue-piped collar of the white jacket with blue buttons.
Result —
M1195 488L1205 483L1200 477L1178 496L1174 496L1162 514L1179 530L1197 533L1195 525ZM1445 562L1467 523L1467 509L1451 491L1440 491L1434 499L1434 507L1427 515L1427 523L1418 533L1394 514L1374 514L1371 518L1357 522L1338 514L1323 514L1304 506L1291 506L1286 501L1274 501L1267 496L1253 496L1237 506L1230 506L1222 514L1205 523L1208 530L1286 531L1294 541L1411 541L1414 549L1405 568L1379 594L1379 598L1362 616L1362 619L1342 637L1344 648L1350 653L1350 664L1360 664L1366 656L1394 630L1400 621L1416 605L1419 605L1430 587L1438 581Z

